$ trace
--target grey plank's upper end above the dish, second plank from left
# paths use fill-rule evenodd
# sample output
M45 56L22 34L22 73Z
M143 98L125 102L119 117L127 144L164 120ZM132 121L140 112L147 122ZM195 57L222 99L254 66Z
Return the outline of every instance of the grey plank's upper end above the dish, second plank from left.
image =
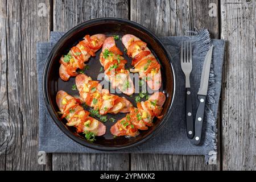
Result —
M53 30L67 31L86 20L101 17L128 18L127 0L53 1Z

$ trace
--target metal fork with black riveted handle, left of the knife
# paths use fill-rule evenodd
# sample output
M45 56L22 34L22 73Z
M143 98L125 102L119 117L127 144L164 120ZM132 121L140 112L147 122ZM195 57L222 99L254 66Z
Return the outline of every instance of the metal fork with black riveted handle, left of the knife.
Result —
M185 88L186 88L186 123L187 123L187 135L188 138L193 138L194 135L194 123L192 113L192 100L191 100L191 88L190 88L190 73L192 71L192 47L191 42L181 43L180 52L181 69L185 75Z

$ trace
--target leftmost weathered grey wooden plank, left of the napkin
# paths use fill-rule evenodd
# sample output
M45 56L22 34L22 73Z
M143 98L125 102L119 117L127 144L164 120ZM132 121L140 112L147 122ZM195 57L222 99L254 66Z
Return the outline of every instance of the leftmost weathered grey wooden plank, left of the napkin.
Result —
M38 14L39 3L46 7L46 16L39 16L42 15L41 11ZM0 102L3 102L0 106L0 169L48 169L51 163L38 164L38 83L35 50L36 42L48 40L49 1L1 0L0 5ZM2 135L5 136L2 138Z

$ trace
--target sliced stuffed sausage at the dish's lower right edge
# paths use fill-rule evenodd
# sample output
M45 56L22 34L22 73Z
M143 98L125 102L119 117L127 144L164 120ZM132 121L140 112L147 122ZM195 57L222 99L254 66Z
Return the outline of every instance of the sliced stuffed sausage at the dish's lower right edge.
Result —
M130 113L125 118L115 123L110 131L115 136L136 137L138 130L147 130L152 126L154 117L162 118L161 111L166 96L162 92L156 92L145 102L138 102L137 108L130 109Z

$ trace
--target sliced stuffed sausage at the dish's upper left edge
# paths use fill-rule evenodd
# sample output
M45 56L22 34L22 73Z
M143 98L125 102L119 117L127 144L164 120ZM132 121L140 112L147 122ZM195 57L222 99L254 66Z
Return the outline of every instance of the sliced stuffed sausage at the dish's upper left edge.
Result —
M59 69L61 80L68 81L71 76L76 76L76 70L84 68L84 63L90 56L95 56L95 52L102 47L105 39L104 34L85 35L84 40L72 47L67 55L61 56Z

